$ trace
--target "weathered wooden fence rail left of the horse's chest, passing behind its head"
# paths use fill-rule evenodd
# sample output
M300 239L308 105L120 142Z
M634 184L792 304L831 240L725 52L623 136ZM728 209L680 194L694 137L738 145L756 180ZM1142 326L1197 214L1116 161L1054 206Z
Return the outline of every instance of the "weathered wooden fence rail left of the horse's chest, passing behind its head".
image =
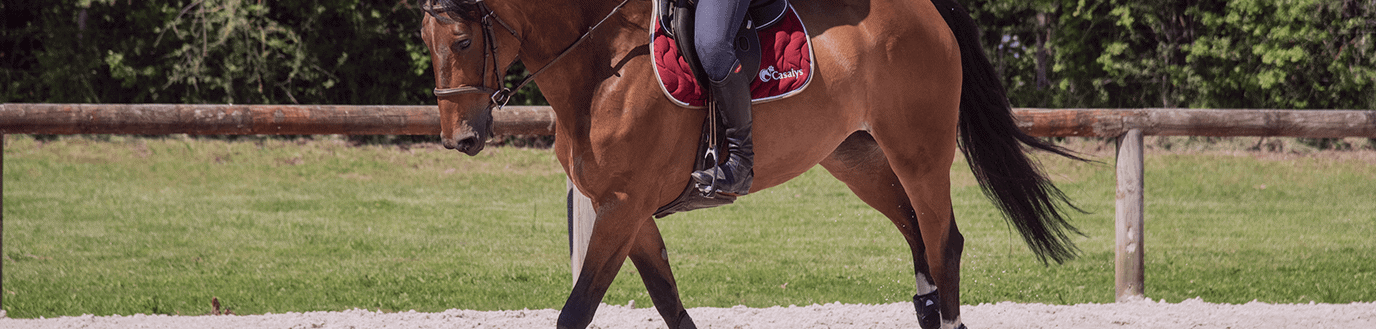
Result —
M435 106L6 103L0 134L439 135ZM549 106L493 112L493 134L553 135Z

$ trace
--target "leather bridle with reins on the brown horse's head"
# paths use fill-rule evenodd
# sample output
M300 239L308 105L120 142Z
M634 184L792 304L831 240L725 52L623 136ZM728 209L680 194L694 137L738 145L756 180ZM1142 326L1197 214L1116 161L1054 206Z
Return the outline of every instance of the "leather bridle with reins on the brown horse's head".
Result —
M512 29L510 25L506 25L506 22L502 21L502 18L497 17L497 12L493 12L493 10L490 7L487 7L487 1L484 1L484 0L476 0L475 3L477 4L477 15L482 17L480 23L483 26L483 43L487 44L487 52L483 54L483 67L484 67L484 70L482 73L482 80L479 80L479 81L482 81L482 84L487 84L487 72L486 72L486 67L487 67L487 62L491 62L493 63L493 76L497 80L497 87L498 88L493 88L493 87L487 87L487 85L460 85L460 87L454 87L454 88L435 88L435 96L436 98L444 98L444 96L457 96L457 95L465 95L465 94L488 94L490 95L488 99L491 100L491 103L488 103L487 107L488 109L493 109L493 107L501 109L502 106L506 106L506 102L510 100L510 96L513 94L516 94L516 91L519 91L523 87L526 87L526 84L530 84L530 81L534 81L535 77L539 76L539 73L544 73L545 69L549 69L549 66L553 66L556 62L559 62L559 59L564 58L564 55L568 55L568 52L572 52L574 47L578 47L578 44L583 43L583 40L588 40L588 36L592 36L593 30L597 30L597 26L601 26L603 22L607 22L608 18L611 18L618 11L621 11L621 7L625 7L626 3L629 3L629 1L630 0L622 0L621 4L618 4L615 8L612 8L611 12L607 14L607 17L603 17L603 19L597 22L597 25L593 25L593 28L588 29L588 32L583 32L583 34L579 36L578 40L574 40L572 44L570 44L568 47L564 47L564 51L559 52L559 55L555 56L553 61L549 61L549 63L546 63L544 67L539 67L539 70L535 70L535 73L531 73L531 74L526 76L524 78L522 78L522 81L519 84L516 84L516 88L505 88L505 87L502 87L504 85L502 81L505 80L506 74L504 74L501 72L501 67L498 67L498 66L501 66L501 63L499 63L499 59L497 59L497 37L494 37L495 33L493 32L494 30L493 29L493 22L497 22L498 25L501 25L502 28L505 28L506 32L509 32L517 40L522 39L522 37L520 37L520 34L516 34L516 29ZM436 6L436 4L433 4L433 1L427 1L425 4L421 6L421 10L424 10L425 12L428 12L431 17L435 17L435 19L438 19L440 22L454 23L453 19L443 18L439 14L440 12L449 12L449 11L458 11L460 8L447 7L447 6Z

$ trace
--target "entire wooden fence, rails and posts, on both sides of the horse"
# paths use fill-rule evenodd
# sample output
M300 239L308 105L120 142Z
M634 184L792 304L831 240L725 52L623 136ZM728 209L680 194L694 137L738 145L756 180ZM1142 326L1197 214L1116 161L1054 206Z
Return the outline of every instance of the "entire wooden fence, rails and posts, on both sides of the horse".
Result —
M1119 300L1142 296L1143 135L1376 138L1376 112L1370 110L1014 109L1014 114L1018 127L1035 136L1117 138L1115 293ZM497 135L555 132L555 114L548 106L508 106L494 112L493 120ZM4 103L0 105L0 169L4 134L438 135L439 129L433 106ZM588 202L581 193L570 193L571 211L582 213L570 219L572 268L582 263L579 251L585 251L590 235L593 217ZM3 233L0 215L0 246Z

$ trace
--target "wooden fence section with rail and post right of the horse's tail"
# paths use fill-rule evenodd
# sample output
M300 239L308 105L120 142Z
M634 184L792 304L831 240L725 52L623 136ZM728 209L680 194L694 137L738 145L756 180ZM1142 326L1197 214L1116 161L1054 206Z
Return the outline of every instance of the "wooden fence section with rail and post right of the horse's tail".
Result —
M1036 136L1117 138L1113 211L1113 290L1117 301L1142 299L1142 136L1376 138L1369 110L1017 109L1018 127Z

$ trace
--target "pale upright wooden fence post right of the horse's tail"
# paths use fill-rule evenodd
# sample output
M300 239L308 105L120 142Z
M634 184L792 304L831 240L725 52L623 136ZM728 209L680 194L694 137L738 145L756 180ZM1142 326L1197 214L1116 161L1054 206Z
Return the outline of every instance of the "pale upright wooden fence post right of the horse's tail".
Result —
M1117 246L1113 249L1115 297L1119 303L1145 297L1142 255L1142 129L1119 138L1117 201L1113 215Z

